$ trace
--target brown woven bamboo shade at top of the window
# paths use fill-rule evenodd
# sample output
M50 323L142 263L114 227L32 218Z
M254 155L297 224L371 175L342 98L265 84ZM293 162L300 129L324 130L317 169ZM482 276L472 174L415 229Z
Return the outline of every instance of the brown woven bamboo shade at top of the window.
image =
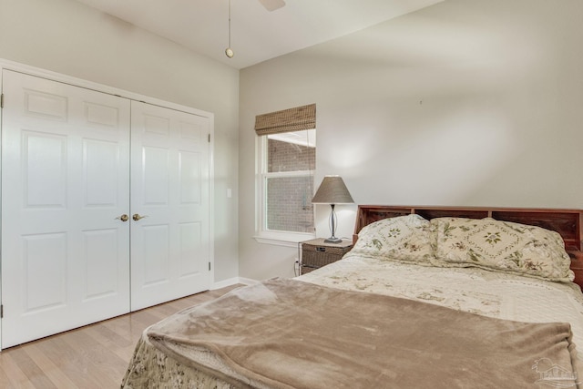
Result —
M283 109L255 117L257 135L302 131L316 128L316 105Z

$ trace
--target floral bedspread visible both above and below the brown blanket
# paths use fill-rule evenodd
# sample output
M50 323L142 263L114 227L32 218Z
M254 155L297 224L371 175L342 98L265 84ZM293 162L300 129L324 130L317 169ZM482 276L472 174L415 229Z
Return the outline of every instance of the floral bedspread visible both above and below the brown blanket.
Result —
M569 322L574 343L583 344L583 294L573 284L544 282L480 269L434 269L396 262L379 262L351 257L350 254L342 261L312 271L298 280L349 291L394 295L500 319ZM531 343L536 343L536 340L531 340ZM216 370L225 369L225 365L221 367L216 355L204 349L199 349L197 354L206 365L213 367L209 370L180 363L176 354L159 350L149 342L147 333L144 333L122 386L220 389L271 387L269 384L247 379L233 369L229 372L228 367L227 375L238 378L233 380L215 374L213 372ZM578 353L578 363L583 360L582 354ZM549 384L553 384L553 377L552 374L545 377L546 368L555 369L557 372L565 367L562 362L552 361L543 355L530 362L530 381L524 387L551 387ZM452 383L450 387L462 386Z

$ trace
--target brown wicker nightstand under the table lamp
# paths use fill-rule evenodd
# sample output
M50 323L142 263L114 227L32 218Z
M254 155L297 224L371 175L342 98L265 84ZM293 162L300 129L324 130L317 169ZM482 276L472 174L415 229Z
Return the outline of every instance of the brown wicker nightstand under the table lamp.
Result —
M326 243L323 238L298 243L300 251L300 274L321 268L329 263L338 261L353 248L352 241L340 243Z

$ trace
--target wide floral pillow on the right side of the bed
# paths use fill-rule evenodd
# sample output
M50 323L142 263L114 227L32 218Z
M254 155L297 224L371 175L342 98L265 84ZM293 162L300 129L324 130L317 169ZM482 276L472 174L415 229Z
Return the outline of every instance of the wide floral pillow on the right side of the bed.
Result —
M508 271L550 281L573 281L565 242L552 230L509 221L431 220L437 260Z

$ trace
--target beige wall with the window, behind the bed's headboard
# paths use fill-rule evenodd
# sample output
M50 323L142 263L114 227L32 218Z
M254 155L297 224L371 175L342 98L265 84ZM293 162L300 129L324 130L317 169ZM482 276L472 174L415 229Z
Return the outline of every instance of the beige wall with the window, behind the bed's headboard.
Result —
M240 275L293 275L294 249L252 239L254 117L287 107L317 104L316 185L340 174L359 204L583 208L582 20L580 0L445 0L243 69Z

